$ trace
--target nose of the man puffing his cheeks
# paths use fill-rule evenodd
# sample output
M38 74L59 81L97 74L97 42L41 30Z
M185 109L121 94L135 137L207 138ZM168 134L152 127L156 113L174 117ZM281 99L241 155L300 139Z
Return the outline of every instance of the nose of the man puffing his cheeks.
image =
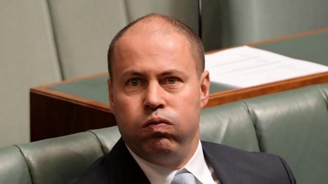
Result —
M145 90L143 107L146 110L155 111L156 109L165 108L166 102L163 99L163 91L161 85L157 81L151 81Z

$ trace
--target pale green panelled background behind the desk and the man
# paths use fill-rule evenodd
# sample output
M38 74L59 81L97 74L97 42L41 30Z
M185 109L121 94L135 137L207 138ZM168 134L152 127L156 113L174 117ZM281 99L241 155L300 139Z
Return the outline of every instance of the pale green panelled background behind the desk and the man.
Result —
M328 27L326 0L202 0L201 7L206 51ZM199 32L198 0L0 0L0 147L29 142L31 87L106 72L115 34L150 13Z

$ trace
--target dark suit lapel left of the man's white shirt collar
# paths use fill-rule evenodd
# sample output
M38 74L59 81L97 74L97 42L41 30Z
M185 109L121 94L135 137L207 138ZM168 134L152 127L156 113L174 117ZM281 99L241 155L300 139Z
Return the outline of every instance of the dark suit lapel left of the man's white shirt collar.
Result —
M111 183L150 183L132 157L122 138L115 144L105 160Z

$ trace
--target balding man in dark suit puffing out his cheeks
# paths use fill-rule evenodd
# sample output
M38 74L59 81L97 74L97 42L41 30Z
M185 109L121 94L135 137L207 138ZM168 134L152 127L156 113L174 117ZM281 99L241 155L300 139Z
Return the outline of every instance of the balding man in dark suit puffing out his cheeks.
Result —
M155 14L131 23L110 45L108 70L122 138L76 183L295 183L278 156L199 141L209 74L183 23Z

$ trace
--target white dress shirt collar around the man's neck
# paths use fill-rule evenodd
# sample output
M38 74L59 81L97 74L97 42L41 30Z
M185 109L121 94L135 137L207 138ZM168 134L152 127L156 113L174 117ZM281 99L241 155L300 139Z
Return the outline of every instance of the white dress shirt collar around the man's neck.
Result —
M197 184L220 184L220 182L217 180L217 177L215 176L213 168L207 165L205 161L200 141L194 155L187 162L187 164L179 170L174 170L150 163L137 156L128 146L127 148L151 184L170 184L175 174L183 168L187 169L196 177Z

